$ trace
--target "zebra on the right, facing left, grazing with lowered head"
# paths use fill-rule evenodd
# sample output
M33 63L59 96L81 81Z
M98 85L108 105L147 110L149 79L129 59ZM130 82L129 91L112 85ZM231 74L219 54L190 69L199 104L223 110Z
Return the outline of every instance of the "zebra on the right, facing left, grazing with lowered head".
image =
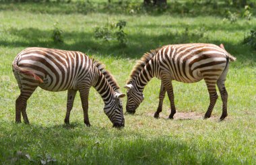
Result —
M167 91L170 100L171 113L169 119L173 119L176 113L172 80L183 83L195 83L201 79L205 80L210 94L210 105L205 113L209 118L212 109L218 98L216 84L222 97L223 120L227 114L228 93L225 88L226 74L228 72L229 60L236 58L228 54L221 44L220 47L214 44L177 44L163 46L152 50L137 62L133 68L130 78L127 81L127 105L129 113L135 113L135 109L143 101L143 89L155 77L161 80L159 105L154 117L159 117L162 111L162 102Z

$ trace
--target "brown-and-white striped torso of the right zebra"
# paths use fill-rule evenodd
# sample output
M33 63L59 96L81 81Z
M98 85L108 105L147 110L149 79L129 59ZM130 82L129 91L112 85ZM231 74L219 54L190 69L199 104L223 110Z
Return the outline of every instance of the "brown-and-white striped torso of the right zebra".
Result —
M195 83L222 74L228 58L226 50L214 44L179 44L162 47L154 57L173 80Z

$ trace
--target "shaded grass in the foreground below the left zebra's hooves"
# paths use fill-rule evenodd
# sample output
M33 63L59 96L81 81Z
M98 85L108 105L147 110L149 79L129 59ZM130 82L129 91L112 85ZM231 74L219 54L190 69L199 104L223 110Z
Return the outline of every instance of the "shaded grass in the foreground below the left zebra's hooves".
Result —
M220 163L211 150L200 151L173 137L143 137L137 131L104 127L72 129L63 125L44 127L2 122L0 160L5 164L28 164L28 158L15 158L17 151L33 162L50 156L59 164L209 164ZM33 163L30 162L30 163Z

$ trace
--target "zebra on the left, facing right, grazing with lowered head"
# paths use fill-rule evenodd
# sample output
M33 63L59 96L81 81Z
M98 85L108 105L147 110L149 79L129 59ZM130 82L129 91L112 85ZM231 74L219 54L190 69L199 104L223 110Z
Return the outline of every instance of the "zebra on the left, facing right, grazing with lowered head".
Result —
M104 113L113 126L125 124L123 105L113 76L104 70L104 65L90 59L82 52L49 48L26 48L13 60L13 74L18 81L20 96L15 103L15 121L29 123L26 114L27 100L39 86L47 91L67 92L67 113L65 123L69 123L70 111L77 91L80 93L84 110L84 123L90 126L88 117L88 95L94 87L104 101Z

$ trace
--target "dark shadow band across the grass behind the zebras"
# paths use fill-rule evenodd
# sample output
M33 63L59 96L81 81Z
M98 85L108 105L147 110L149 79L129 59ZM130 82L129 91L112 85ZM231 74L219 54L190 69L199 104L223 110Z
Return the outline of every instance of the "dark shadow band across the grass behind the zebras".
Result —
M8 47L46 47L59 48L63 50L77 50L88 55L98 54L100 56L115 56L117 58L140 58L145 52L167 44L177 43L212 43L220 45L222 41L210 40L204 36L204 32L169 32L164 35L135 34L129 35L127 46L120 46L117 42L104 42L96 40L94 34L90 32L65 32L63 34L64 43L56 44L51 39L51 30L38 30L36 28L25 28L18 30L12 28L8 30L11 36L15 36L13 41L6 41L0 38L1 46ZM73 41L73 42L69 42ZM236 56L238 60L253 64L256 62L252 56L251 49L242 44L223 43L230 54ZM18 52L17 52L18 53ZM235 65L236 66L236 65Z

